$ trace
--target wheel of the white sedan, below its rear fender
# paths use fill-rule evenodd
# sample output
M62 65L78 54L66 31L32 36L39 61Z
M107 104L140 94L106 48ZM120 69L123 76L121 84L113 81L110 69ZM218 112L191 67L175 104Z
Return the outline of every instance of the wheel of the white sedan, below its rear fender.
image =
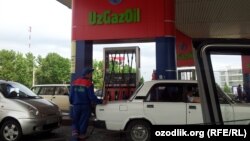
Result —
M126 128L126 135L129 141L150 141L150 124L143 120L131 121Z

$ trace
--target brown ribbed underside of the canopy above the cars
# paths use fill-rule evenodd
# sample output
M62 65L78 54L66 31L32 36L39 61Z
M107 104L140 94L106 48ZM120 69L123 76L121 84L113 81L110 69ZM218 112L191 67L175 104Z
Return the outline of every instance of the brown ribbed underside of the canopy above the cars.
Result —
M57 0L71 8L71 0ZM175 0L176 29L191 38L250 39L250 0Z

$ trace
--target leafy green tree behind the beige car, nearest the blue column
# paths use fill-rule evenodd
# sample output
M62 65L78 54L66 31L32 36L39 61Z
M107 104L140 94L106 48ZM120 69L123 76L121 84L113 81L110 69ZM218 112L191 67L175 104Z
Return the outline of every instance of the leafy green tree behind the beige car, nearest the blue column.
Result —
M70 60L57 53L49 53L44 59L38 57L37 84L68 83L70 81Z

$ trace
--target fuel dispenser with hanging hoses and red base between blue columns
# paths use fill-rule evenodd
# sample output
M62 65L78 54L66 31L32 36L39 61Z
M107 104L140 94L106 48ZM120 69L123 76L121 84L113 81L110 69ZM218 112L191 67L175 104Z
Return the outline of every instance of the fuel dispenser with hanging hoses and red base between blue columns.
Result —
M140 81L140 48L104 48L104 99L128 99Z

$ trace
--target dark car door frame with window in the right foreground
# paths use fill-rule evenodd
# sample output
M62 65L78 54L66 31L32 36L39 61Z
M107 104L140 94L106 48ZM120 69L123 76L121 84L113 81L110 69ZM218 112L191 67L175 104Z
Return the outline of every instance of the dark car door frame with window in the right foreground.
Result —
M204 122L249 124L250 40L199 39L193 45ZM233 74L232 70L236 68L238 72ZM239 84L242 84L245 95L240 101L233 91ZM217 86L228 103L220 103Z

